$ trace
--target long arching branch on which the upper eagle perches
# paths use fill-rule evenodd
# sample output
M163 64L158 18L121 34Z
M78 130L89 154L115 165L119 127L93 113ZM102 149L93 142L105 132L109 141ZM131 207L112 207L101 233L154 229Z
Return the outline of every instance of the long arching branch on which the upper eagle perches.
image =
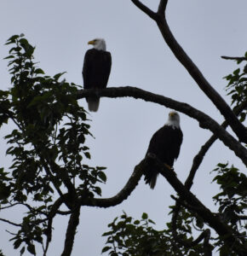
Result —
M110 98L130 96L135 99L142 99L146 102L158 103L166 108L173 108L181 113L185 113L192 119L198 120L198 123L202 128L212 131L217 137L219 137L221 142L233 150L233 152L244 162L244 165L247 166L247 150L241 145L241 143L238 143L233 136L225 131L221 125L216 123L214 119L211 119L210 116L196 108L192 108L192 106L187 103L177 102L168 97L160 96L149 91L130 86L118 88L112 87L99 90L78 90L78 99L87 96L105 96Z

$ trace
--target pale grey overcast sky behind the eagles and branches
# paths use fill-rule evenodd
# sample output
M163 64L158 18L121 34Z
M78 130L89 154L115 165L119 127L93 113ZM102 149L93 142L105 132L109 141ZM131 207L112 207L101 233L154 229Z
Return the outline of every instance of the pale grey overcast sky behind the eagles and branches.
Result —
M154 10L158 1L144 1ZM210 81L229 102L222 78L236 69L233 61L224 61L221 55L244 55L247 46L246 0L173 0L169 1L167 19L175 38L190 55L206 79ZM215 120L223 119L219 111L199 90L187 71L176 61L175 56L161 37L158 27L128 0L2 0L0 4L0 70L1 90L9 88L6 40L24 33L29 42L36 46L35 58L48 75L66 71L69 82L83 85L83 55L90 47L87 42L94 38L105 38L106 47L112 53L112 73L108 87L135 86L180 102L187 102L209 114ZM87 108L85 100L80 100ZM127 98L102 98L99 111L91 113L89 138L91 166L107 166L107 183L103 185L103 197L116 195L127 182L134 167L146 154L152 134L167 119L169 109L157 104ZM192 166L192 158L201 145L210 137L210 131L202 130L195 120L181 114L181 129L184 141L181 154L175 162L175 172L184 181ZM9 131L3 127L1 138ZM5 158L6 146L1 141L2 165L9 166ZM199 168L192 192L207 207L214 209L211 196L218 187L211 184L210 171L218 162L227 162L244 168L235 155L222 143L215 143ZM170 195L174 190L164 177L158 178L154 190L143 179L127 201L117 207L99 209L83 207L73 256L100 255L105 239L101 234L107 224L124 210L135 218L142 212L164 229L169 221L168 206L174 202ZM8 216L11 216L8 213ZM6 217L0 212L0 218ZM14 216L13 219L20 219ZM55 232L49 255L62 252L66 218L55 219ZM6 255L19 255L9 242L6 229L0 224L1 247Z

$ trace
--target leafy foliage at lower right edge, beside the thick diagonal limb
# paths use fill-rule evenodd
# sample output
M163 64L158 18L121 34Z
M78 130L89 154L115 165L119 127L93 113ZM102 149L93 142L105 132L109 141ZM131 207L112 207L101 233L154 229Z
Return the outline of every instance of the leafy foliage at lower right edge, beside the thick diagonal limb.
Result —
M219 206L219 215L225 223L232 226L239 240L247 247L247 242L242 239L246 237L247 228L247 177L239 172L238 168L229 167L228 164L218 164L213 172L217 172L213 181L221 188L221 193L213 197L215 204ZM220 246L221 255L238 255L222 241L221 237L217 239L215 245Z

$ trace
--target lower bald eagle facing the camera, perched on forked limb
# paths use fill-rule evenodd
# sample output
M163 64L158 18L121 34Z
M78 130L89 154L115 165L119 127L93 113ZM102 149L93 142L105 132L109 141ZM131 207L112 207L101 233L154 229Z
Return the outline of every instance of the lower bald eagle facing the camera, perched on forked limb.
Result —
M172 167L179 155L182 137L180 116L172 111L169 113L168 121L164 126L153 134L146 155L149 153L155 154L166 166ZM149 183L151 189L153 189L158 172L152 169L152 166L149 166L144 175L146 183Z

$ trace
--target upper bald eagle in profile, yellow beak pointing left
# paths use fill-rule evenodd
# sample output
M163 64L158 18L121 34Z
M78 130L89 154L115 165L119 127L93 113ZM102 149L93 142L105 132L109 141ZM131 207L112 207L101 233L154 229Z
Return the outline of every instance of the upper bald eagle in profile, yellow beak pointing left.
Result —
M89 49L84 56L84 89L106 88L112 67L111 53L106 51L106 42L102 38L96 38L88 44L92 44L94 48ZM96 112L100 105L100 97L87 97L86 100L89 111Z

